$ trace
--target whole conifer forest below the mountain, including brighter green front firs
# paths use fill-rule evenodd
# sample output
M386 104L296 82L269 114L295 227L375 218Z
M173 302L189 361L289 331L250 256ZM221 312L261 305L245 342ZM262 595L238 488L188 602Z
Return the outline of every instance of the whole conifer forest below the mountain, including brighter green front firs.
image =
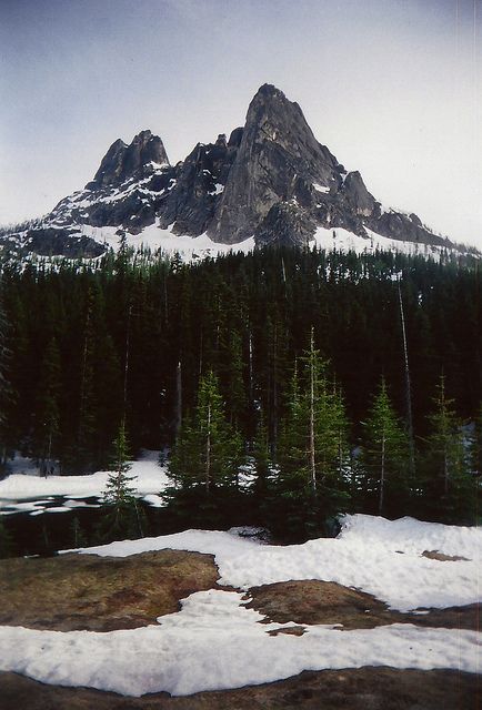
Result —
M481 293L476 260L393 252L6 264L3 463L106 469L121 432L132 455L164 452L183 525L473 524Z

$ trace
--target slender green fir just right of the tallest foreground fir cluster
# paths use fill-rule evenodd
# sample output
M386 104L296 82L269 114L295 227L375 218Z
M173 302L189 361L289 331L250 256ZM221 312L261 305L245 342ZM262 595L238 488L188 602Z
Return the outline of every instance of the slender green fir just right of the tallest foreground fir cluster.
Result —
M362 499L376 499L378 515L403 513L409 495L410 449L382 377L364 423ZM364 506L362 506L364 507Z

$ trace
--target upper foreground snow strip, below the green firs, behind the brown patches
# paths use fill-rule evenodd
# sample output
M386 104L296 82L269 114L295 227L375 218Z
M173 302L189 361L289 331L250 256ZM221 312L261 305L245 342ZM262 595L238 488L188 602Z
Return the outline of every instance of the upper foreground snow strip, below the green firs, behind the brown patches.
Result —
M400 611L473 604L481 595L482 528L413 518L391 523L366 515L345 516L338 538L287 547L258 545L229 532L185 530L84 551L125 557L164 548L214 555L220 584L241 589L289 579L321 579L362 589ZM422 557L424 550L468 560L440 562Z

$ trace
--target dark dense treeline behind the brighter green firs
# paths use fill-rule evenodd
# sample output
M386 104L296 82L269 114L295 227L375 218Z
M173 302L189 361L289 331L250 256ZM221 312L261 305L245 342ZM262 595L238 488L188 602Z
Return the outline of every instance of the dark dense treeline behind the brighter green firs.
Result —
M294 364L310 347L343 398L355 452L382 378L406 423L401 304L415 448L433 435L441 382L458 420L480 412L476 261L290 248L187 265L121 248L96 268L4 266L1 283L4 456L21 450L56 471L106 467L123 420L133 452L172 446L211 372L244 448L262 426L277 460Z

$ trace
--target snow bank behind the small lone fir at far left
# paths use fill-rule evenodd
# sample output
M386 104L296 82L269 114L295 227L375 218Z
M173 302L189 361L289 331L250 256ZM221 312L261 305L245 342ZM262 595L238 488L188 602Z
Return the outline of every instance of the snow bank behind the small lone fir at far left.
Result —
M168 477L164 466L158 463L159 452L144 452L143 456L132 462L130 475L137 495L152 506L160 506L159 494L167 487ZM87 507L82 498L102 498L109 471L97 471L88 476L48 476L34 474L28 459L21 459L18 467L28 473L14 473L0 480L0 515L29 511L30 515L41 513L62 513L78 507ZM17 467L17 468L16 468ZM59 507L51 507L54 497L67 498Z

